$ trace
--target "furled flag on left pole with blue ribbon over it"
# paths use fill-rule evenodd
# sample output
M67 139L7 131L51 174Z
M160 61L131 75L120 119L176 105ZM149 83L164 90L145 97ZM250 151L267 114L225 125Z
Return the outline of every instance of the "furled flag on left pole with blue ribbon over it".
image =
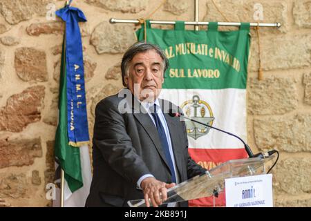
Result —
M64 171L64 206L80 207L85 205L91 186L83 51L79 31L79 22L85 22L86 17L82 10L69 5L56 12L66 23L66 29L59 77L55 158Z

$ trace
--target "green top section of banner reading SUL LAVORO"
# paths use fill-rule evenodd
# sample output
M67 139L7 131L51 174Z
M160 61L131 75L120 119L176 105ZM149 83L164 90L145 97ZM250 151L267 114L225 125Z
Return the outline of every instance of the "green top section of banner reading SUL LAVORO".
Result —
M144 27L138 30L138 39L144 39L143 33ZM163 88L246 88L247 24L229 32L147 28L147 36L147 41L158 44L169 58ZM189 48L194 49L189 53Z

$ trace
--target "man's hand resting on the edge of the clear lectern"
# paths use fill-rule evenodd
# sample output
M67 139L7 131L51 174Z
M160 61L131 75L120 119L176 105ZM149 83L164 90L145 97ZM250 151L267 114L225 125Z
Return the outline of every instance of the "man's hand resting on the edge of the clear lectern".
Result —
M149 207L149 199L154 207L158 207L162 202L167 200L167 189L176 186L175 183L167 184L156 180L155 177L147 177L142 180L140 184L144 192L144 201L146 206Z

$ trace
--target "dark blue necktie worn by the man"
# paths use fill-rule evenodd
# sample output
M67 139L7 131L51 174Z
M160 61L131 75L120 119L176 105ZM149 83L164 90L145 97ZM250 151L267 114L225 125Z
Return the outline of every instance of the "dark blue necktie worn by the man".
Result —
M158 134L160 137L160 141L162 144L162 148L165 154L165 157L167 159L167 163L169 164L169 169L171 171L171 181L176 183L176 176L175 176L175 172L174 172L174 166L173 166L173 161L171 160L171 155L169 154L169 144L167 143L167 135L165 134L164 128L161 124L160 118L158 116L157 113L157 106L156 104L154 104L154 106L151 106L151 115L154 119L154 121L156 122L156 127L158 130Z

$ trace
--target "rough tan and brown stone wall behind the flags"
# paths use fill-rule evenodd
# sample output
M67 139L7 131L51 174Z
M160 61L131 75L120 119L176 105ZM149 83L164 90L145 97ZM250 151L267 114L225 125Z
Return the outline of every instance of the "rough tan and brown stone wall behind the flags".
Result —
M282 23L279 29L260 29L262 81L256 79L258 38L251 32L247 138L254 152L276 148L281 153L273 170L275 205L311 206L311 1L214 1L231 21L254 21L254 6L261 3L263 22ZM201 21L224 21L210 0L199 2ZM135 42L138 28L111 25L109 19L145 17L159 3L73 1L88 19L80 28L89 128L95 104L122 88L122 52ZM56 0L0 0L0 206L50 206L45 188L54 175L64 34L64 23L53 19L53 12L63 5ZM194 1L167 0L153 19L191 21Z

